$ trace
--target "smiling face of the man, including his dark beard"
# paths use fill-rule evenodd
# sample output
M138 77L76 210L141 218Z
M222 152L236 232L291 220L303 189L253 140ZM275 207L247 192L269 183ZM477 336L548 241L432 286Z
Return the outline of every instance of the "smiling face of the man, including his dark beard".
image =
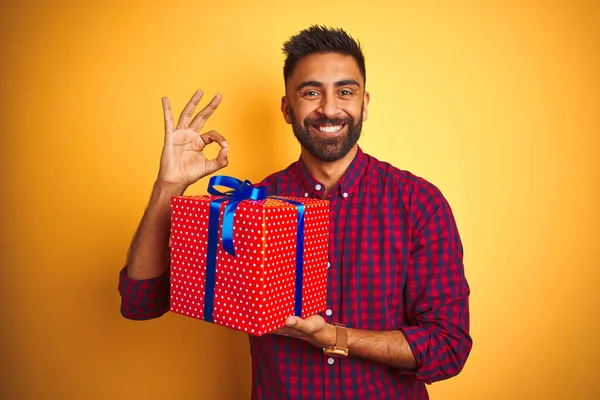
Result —
M281 111L306 151L333 162L358 142L368 105L369 93L354 58L319 53L296 64Z

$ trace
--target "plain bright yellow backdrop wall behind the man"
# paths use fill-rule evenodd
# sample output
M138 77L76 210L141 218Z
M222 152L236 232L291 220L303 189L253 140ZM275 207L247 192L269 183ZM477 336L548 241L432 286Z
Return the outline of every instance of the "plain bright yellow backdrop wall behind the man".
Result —
M117 276L161 96L178 113L222 93L222 172L258 181L299 154L280 49L312 23L364 45L365 151L455 212L474 347L432 399L600 398L599 2L16 3L0 6L0 398L248 398L244 334L127 321Z

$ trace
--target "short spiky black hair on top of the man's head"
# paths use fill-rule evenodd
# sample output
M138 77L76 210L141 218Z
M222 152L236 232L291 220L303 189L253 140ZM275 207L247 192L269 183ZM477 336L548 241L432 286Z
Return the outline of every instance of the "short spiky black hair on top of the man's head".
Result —
M365 56L360 42L341 28L312 25L289 38L283 44L283 53L286 55L283 65L283 79L286 84L296 63L315 53L340 53L352 56L358 64L363 80L367 82Z

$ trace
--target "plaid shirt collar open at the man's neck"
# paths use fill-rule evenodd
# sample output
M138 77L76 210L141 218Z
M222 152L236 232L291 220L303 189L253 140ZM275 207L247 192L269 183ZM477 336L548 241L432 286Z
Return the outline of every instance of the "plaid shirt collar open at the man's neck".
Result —
M342 179L340 179L336 187L330 190L329 193L337 192L343 200L349 200L358 187L358 182L365 174L368 162L367 155L358 146L356 155L342 176ZM302 157L298 159L295 169L296 176L304 190L304 197L323 198L325 186L311 175Z

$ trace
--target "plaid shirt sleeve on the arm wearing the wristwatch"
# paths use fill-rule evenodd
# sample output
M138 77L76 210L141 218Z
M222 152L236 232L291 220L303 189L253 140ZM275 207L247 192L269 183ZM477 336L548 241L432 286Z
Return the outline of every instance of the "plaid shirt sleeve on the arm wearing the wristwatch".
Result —
M457 375L471 351L469 294L463 248L449 204L435 187L422 188L414 221L401 328L417 361L416 378L432 383Z

